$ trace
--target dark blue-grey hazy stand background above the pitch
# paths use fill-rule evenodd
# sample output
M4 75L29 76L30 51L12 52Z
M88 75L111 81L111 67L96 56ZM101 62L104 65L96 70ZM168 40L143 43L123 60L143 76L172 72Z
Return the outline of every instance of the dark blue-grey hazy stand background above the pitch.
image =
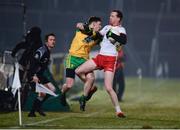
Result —
M112 9L124 13L126 75L180 77L180 0L0 0L0 52L39 26L42 38L56 34L53 52L67 53L77 22L96 15L106 25Z

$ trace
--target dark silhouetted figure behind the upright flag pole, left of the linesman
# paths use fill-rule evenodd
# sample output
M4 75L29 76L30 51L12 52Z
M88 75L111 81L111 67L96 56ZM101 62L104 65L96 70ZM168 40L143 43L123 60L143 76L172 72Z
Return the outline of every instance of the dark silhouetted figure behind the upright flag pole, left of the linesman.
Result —
M22 108L24 107L30 87L28 85L27 74L30 73L30 58L33 56L35 51L42 46L41 40L41 29L37 26L31 27L23 39L18 42L12 49L11 56L17 58L19 63L19 74L20 81L22 84L21 88L21 102Z

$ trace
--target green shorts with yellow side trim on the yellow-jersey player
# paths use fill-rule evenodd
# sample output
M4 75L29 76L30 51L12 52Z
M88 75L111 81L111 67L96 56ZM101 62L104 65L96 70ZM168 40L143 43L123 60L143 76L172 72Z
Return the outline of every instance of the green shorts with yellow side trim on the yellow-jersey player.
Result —
M74 69L75 70L77 67L79 67L84 62L86 62L86 59L84 59L84 58L68 55L66 57L65 67L68 69Z

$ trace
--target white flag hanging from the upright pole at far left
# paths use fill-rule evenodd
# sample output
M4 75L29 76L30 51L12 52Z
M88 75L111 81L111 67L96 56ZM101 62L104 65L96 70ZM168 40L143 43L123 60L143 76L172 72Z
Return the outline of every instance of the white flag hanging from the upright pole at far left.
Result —
M14 79L13 79L13 83L12 83L12 90L11 90L11 92L13 93L14 96L16 94L17 89L20 87L21 87L21 82L19 79L19 64L16 62L15 63L15 74L14 74Z

